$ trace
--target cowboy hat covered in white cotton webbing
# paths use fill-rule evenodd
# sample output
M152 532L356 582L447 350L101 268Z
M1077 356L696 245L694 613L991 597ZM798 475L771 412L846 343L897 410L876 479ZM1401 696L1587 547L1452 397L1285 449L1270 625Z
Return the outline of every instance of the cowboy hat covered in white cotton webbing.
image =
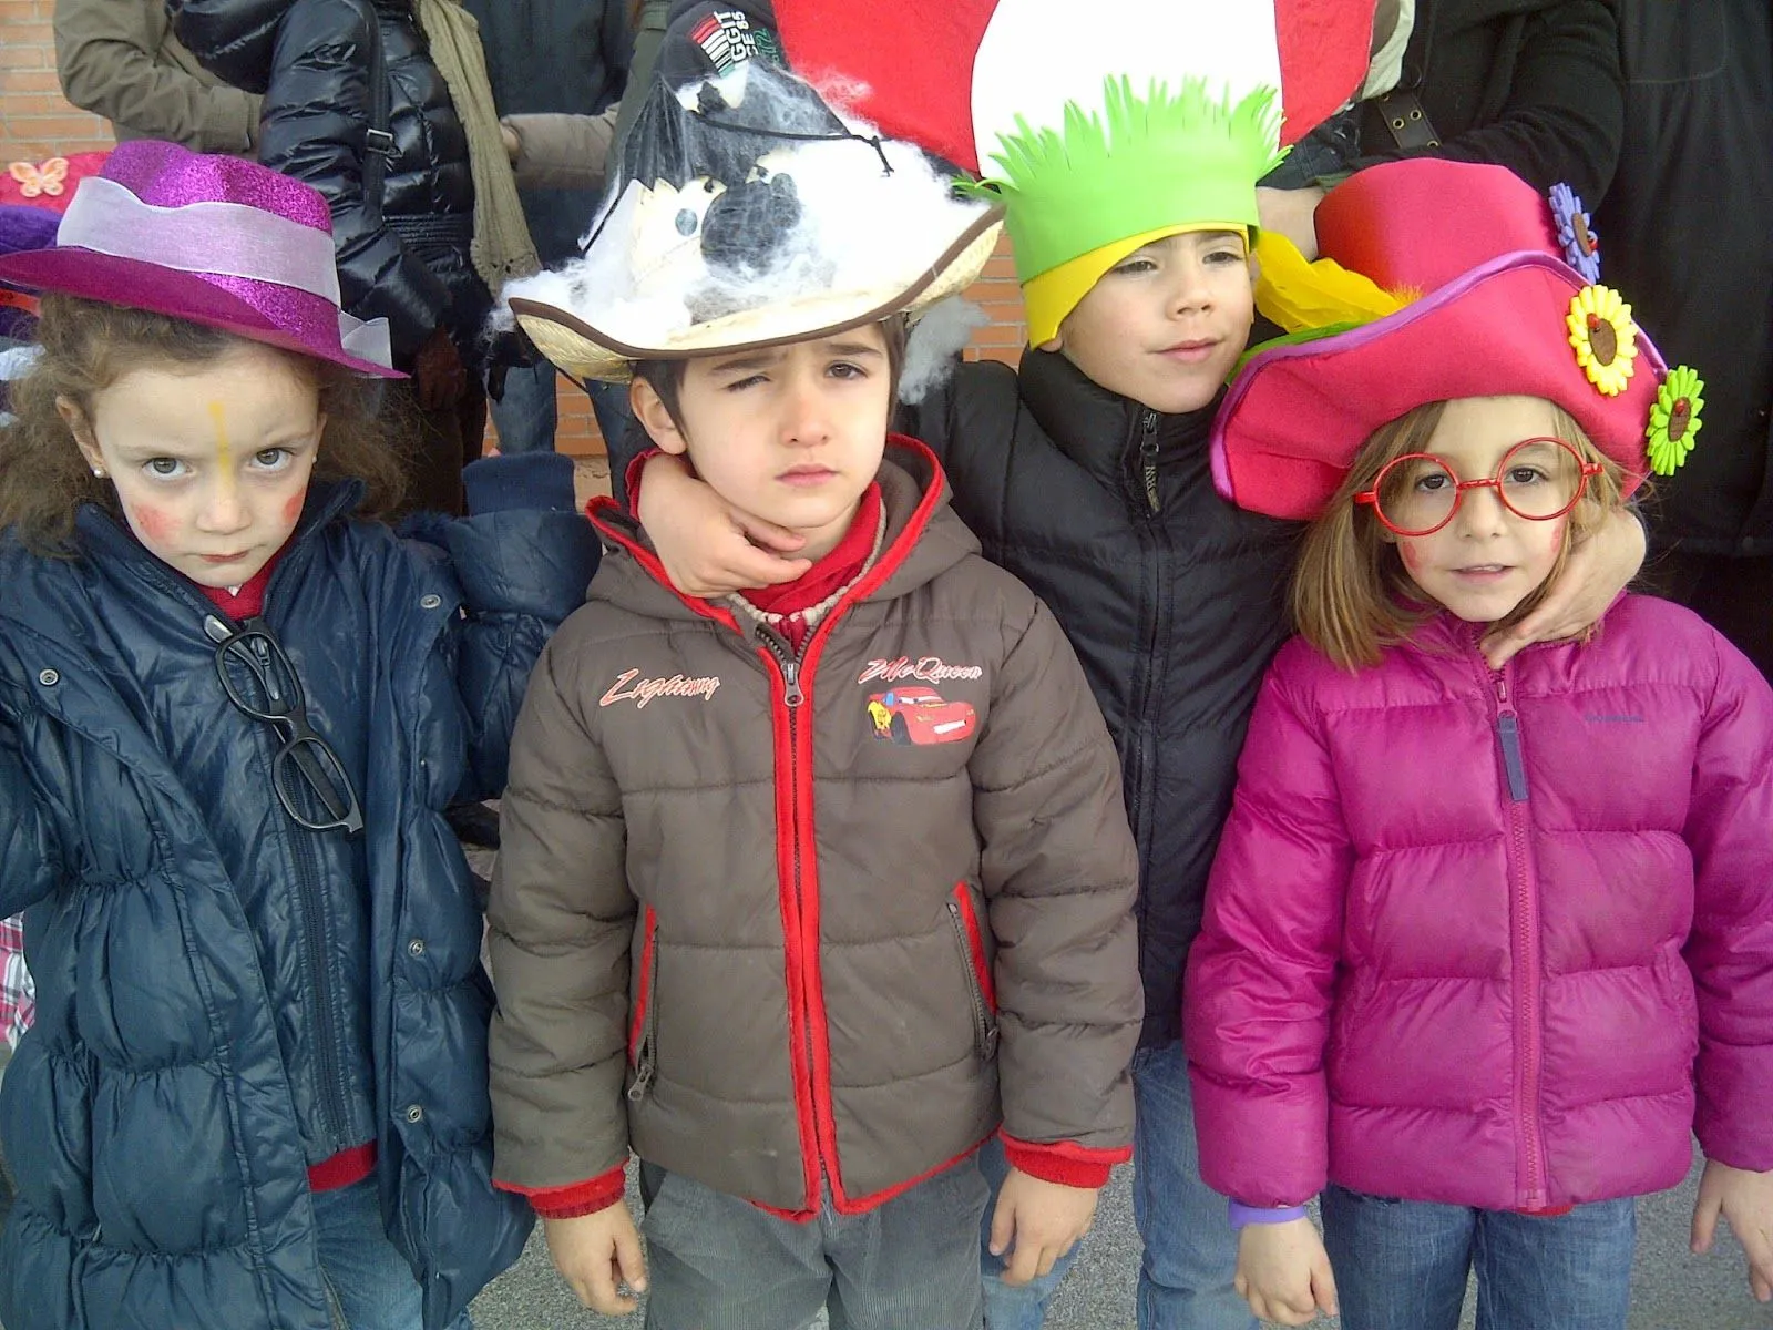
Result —
M505 287L580 378L805 340L965 289L998 218L927 156L762 62L652 85L585 255Z

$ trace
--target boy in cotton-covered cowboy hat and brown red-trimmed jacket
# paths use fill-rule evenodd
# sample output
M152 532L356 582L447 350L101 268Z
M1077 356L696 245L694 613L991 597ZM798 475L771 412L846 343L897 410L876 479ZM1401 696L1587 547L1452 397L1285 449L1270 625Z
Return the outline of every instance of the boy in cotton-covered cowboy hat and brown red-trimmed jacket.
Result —
M603 1312L626 1280L677 1330L977 1326L980 1142L1018 1268L1050 1268L1128 1158L1140 1009L1083 672L888 433L904 319L998 218L762 60L654 83L626 161L585 261L511 305L812 564L684 596L594 507L610 553L512 741L496 1177Z

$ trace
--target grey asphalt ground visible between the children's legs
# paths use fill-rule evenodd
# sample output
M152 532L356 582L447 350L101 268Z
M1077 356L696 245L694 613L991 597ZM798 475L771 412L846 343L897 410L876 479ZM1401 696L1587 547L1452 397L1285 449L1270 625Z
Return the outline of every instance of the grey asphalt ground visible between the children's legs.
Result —
M1103 1193L1096 1229L1058 1289L1048 1330L1131 1330L1138 1234L1133 1231L1131 1169L1117 1170ZM1633 1268L1631 1330L1768 1330L1773 1307L1753 1302L1741 1248L1727 1232L1707 1256L1688 1250L1699 1170L1674 1192L1638 1202L1638 1256ZM629 1202L638 1201L629 1186ZM578 1305L548 1261L541 1234L523 1259L473 1303L479 1330L638 1330L640 1318L592 1316ZM1321 1319L1316 1326L1333 1326ZM1472 1296L1464 1325L1472 1326ZM709 1326L709 1330L720 1330ZM789 1330L789 1326L784 1326ZM906 1330L931 1330L906 1326ZM1541 1326L1539 1330L1558 1330Z

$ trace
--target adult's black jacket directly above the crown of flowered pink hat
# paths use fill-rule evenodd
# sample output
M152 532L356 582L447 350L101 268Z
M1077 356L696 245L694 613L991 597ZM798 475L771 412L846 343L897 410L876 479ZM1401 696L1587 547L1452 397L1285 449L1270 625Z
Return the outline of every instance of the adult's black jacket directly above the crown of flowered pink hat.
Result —
M1440 147L1399 149L1369 101L1356 165L1488 161L1541 190L1564 181L1589 204L1613 179L1622 94L1608 0L1418 0L1399 87L1420 98Z

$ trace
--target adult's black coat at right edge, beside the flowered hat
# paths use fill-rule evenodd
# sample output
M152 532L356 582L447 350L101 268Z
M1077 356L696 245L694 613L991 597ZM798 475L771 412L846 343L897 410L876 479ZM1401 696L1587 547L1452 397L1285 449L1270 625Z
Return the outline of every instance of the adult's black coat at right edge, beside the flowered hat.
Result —
M1626 149L1596 216L1601 280L1706 379L1658 544L1773 555L1773 5L1624 0ZM1768 606L1773 614L1773 606Z

